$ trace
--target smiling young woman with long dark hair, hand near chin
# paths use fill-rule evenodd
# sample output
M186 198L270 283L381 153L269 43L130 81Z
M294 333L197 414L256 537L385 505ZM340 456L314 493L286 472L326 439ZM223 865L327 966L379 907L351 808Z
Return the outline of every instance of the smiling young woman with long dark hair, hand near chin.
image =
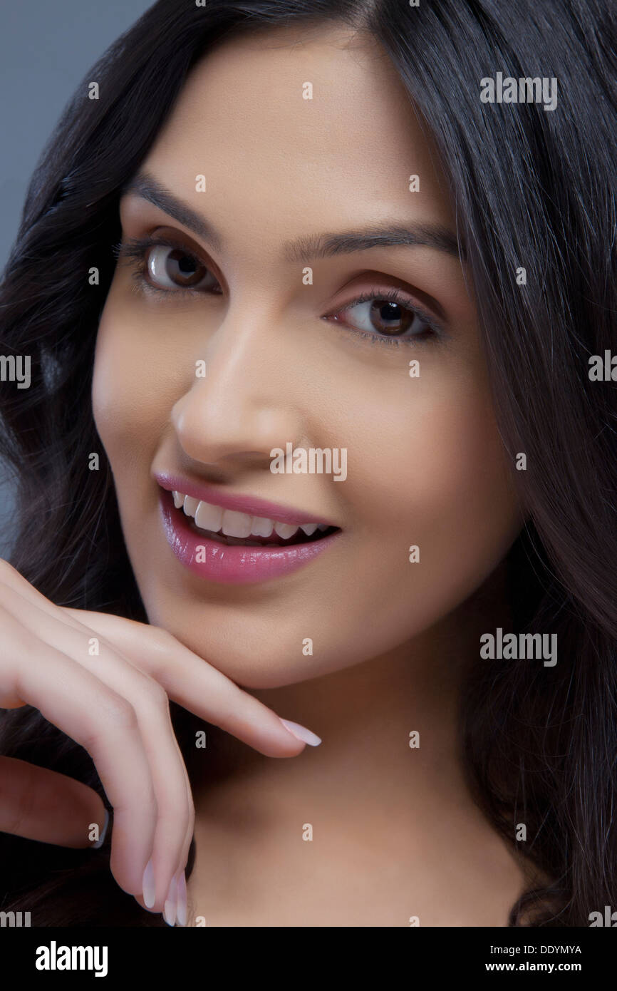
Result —
M614 39L160 0L84 79L2 287L2 910L617 907Z

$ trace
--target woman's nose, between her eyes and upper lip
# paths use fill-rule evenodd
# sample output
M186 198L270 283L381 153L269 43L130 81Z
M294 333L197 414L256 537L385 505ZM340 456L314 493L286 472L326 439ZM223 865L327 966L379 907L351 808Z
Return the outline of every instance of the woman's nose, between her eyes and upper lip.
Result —
M250 455L269 463L272 448L304 439L298 353L269 310L248 309L230 307L206 346L199 341L196 363L205 362L205 375L195 374L171 410L178 441L194 461Z

